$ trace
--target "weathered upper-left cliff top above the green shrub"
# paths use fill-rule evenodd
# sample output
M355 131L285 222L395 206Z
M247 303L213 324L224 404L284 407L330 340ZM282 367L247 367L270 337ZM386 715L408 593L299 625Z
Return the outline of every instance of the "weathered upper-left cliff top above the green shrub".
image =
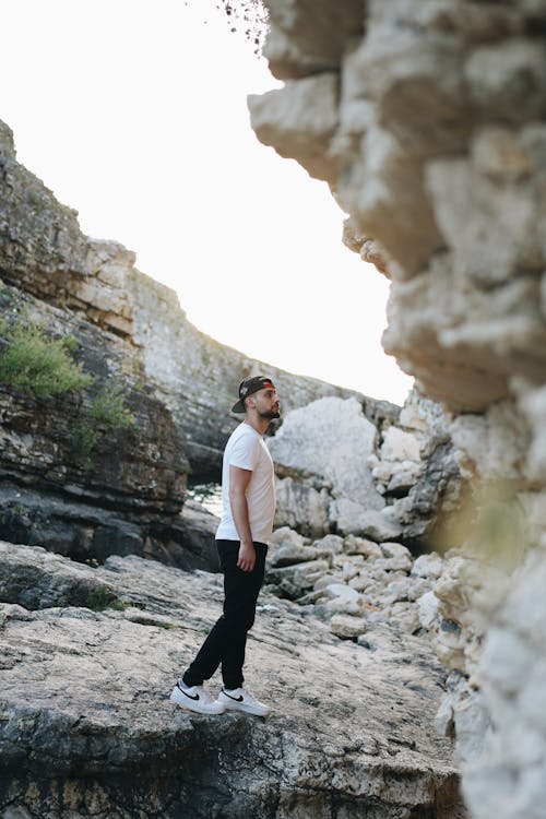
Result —
M126 289L134 253L90 239L78 212L61 205L16 162L13 134L0 123L0 275L46 301L81 311L122 336L131 334Z

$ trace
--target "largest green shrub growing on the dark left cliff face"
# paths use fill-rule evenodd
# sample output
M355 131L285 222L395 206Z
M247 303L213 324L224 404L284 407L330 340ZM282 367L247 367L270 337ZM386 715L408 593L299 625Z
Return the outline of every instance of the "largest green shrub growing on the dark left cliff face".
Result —
M0 357L0 382L14 390L46 397L72 390L81 392L92 381L82 373L82 365L70 357L73 336L52 339L32 321L17 319L11 325L3 321L0 334L5 347Z

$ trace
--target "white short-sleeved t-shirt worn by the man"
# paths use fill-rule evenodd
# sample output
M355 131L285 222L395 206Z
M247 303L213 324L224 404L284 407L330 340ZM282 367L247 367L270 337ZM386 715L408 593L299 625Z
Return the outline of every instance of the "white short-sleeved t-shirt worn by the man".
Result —
M224 451L222 465L222 521L217 541L240 541L229 503L229 466L250 470L247 487L248 517L252 541L268 543L275 517L275 478L273 459L262 436L250 424L239 424Z

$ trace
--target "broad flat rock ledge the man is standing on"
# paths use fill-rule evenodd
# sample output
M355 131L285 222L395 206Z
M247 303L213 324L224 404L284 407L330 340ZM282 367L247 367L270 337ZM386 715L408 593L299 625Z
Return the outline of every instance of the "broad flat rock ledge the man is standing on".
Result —
M168 692L218 614L217 575L0 558L1 819L465 816L426 640L381 622L340 640L264 593L248 676L272 714L201 716Z

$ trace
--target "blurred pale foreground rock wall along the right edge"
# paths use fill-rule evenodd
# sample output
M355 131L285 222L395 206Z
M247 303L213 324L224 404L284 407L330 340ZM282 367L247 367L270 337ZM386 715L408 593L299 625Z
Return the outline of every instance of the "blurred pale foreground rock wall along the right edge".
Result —
M546 5L266 7L265 54L286 83L249 98L253 128L328 181L346 244L390 277L384 347L451 412L474 487L461 515L474 557L438 590L463 680L440 723L458 736L476 819L539 817Z

